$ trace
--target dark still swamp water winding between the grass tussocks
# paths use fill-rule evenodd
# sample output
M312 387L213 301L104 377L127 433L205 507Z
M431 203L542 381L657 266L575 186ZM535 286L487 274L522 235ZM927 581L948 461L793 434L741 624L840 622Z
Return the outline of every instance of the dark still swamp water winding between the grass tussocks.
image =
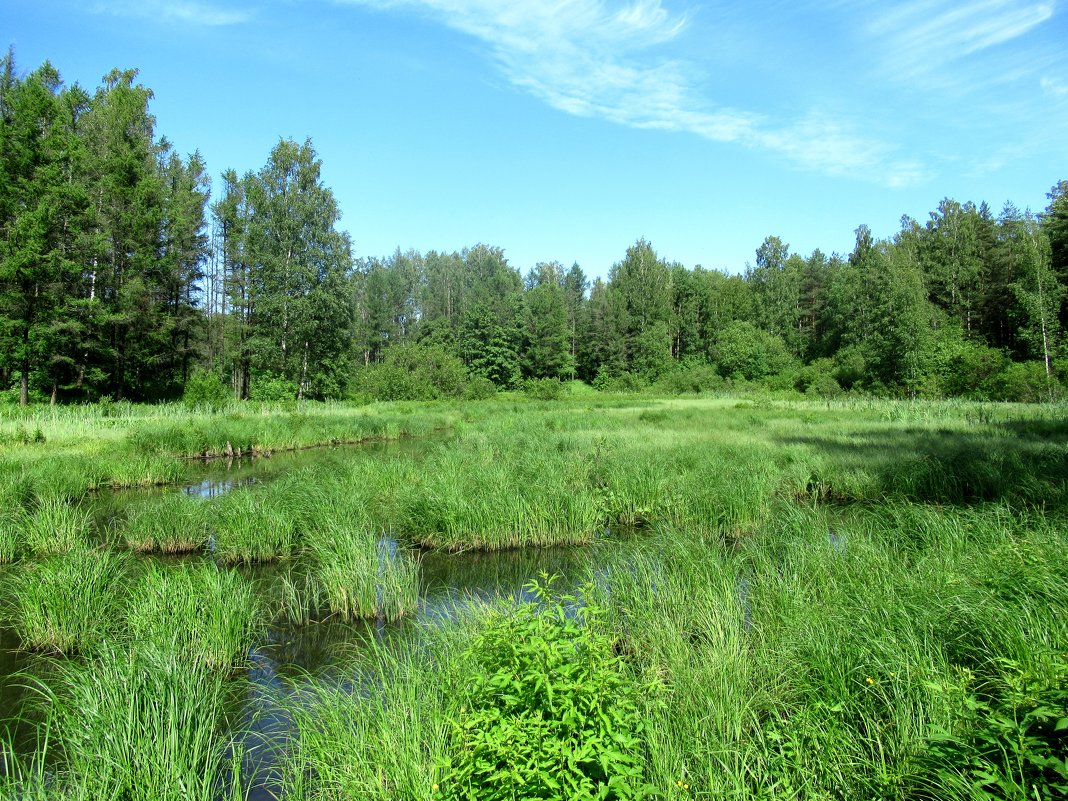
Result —
M187 476L177 486L140 490L101 491L85 502L93 525L100 541L112 540L116 527L122 524L129 504L152 503L153 499L166 501L173 494L184 493L205 502L226 492L250 485L265 484L294 470L308 467L330 469L340 467L361 454L376 451L392 456L421 458L425 449L423 440L311 449L274 455L271 458L214 459L190 462ZM248 654L247 668L239 671L233 681L233 705L227 718L232 731L240 733L239 744L245 750L244 784L249 801L267 801L277 796L272 791L278 775L280 750L292 736L293 725L284 710L307 693L309 682L323 679L347 678L352 670L354 655L375 640L380 646L406 649L420 648L420 632L430 626L447 626L455 621L459 606L475 599L492 601L501 598L528 597L525 588L541 575L555 575L557 590L571 592L592 575L598 562L597 552L602 547L618 549L619 543L590 547L530 548L500 552L468 551L446 553L425 551L420 561L420 602L409 615L393 623L382 619L344 623L320 615L304 625L272 624L261 642ZM410 559L397 544L389 538L379 541L379 559ZM195 556L138 556L138 563L147 565L178 564ZM236 567L252 578L265 591L282 571L292 569L293 562ZM0 581L4 572L17 566L0 567ZM33 732L21 710L34 693L32 686L46 681L54 658L27 654L19 649L17 637L0 624L0 732L15 726L14 743L23 756L33 751ZM223 733L221 740L229 740ZM2 770L2 767L0 767Z

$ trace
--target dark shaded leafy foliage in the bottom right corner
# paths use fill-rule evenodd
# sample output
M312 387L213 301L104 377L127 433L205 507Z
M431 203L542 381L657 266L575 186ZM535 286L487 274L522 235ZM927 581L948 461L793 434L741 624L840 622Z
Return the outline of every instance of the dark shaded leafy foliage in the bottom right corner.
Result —
M953 709L948 728L932 727L909 776L917 799L1068 798L1068 662L1035 673L1010 661L991 679L967 670L931 684Z

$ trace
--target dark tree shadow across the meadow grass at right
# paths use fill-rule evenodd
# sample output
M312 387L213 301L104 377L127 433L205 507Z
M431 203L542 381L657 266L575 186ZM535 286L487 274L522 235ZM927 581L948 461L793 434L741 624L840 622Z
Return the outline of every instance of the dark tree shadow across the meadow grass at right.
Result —
M905 428L780 441L831 458L830 474L810 482L807 492L816 500L891 497L958 505L1002 501L1050 509L1068 503L1068 421L1017 420L974 431ZM849 471L866 476L861 486Z

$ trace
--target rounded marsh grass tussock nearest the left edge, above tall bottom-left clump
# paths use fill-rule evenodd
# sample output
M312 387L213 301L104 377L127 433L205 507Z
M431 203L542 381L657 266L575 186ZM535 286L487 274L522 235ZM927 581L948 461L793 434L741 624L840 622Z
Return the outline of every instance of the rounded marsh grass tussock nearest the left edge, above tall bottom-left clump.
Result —
M129 565L90 547L19 565L3 602L23 647L88 654L120 633Z

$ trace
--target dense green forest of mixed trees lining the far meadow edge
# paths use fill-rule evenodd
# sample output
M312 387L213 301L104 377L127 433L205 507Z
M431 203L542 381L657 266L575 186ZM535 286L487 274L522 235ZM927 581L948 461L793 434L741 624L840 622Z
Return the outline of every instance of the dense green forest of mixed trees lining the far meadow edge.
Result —
M216 186L152 91L0 75L0 392L34 399L423 398L531 379L759 382L1041 400L1066 377L1068 182L1039 214L943 200L846 255L779 237L743 274L639 239L607 279L504 250L357 257L311 141Z

